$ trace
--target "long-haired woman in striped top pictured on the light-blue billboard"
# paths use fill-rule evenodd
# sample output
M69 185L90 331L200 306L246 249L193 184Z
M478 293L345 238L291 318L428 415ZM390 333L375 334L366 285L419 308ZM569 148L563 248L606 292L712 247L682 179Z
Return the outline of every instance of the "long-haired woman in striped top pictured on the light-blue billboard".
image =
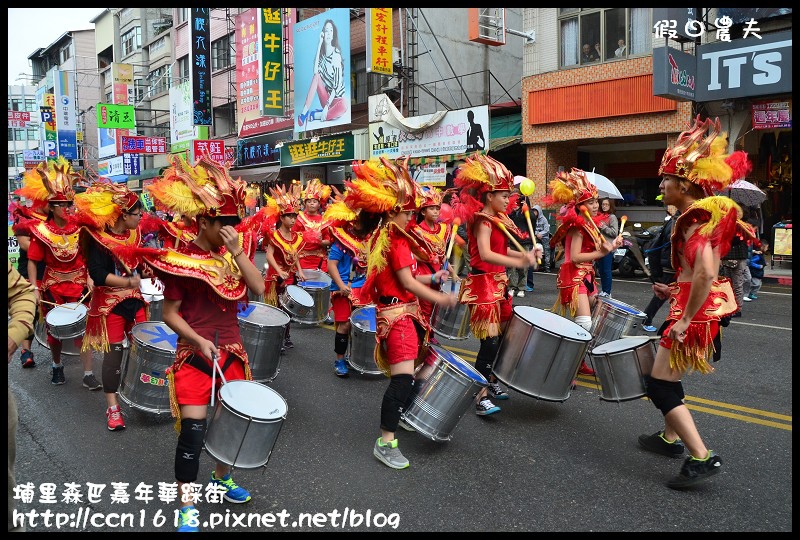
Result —
M312 109L314 96L321 108ZM297 116L299 127L314 120L335 120L347 112L344 86L344 59L339 48L339 32L331 19L322 25L319 46L314 57L314 76L308 87L303 112Z

